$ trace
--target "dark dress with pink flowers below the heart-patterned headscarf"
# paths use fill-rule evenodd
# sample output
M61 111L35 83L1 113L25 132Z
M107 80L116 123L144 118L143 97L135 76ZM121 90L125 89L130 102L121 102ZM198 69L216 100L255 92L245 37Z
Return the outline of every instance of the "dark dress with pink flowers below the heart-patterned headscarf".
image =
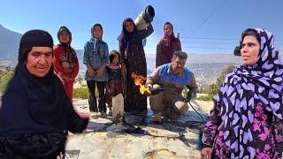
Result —
M219 112L218 108L213 110L215 113ZM203 132L209 133L203 138L203 143L206 145L213 145L214 158L236 158L235 154L231 155L231 148L224 143L225 131L223 131L223 124L215 125L218 120L217 116L211 116L210 121L203 126ZM218 133L218 135L216 135ZM212 136L216 135L214 140ZM243 143L246 143L246 158L281 158L283 148L283 123L278 118L274 119L270 113L264 111L263 105L258 103L256 105L255 117L251 129L248 133L243 135ZM213 144L211 144L213 143ZM234 145L236 146L236 145ZM237 145L239 147L239 145ZM244 147L239 149L243 149ZM263 149L264 148L264 149ZM244 151L242 152L244 155ZM244 158L244 157L241 157Z

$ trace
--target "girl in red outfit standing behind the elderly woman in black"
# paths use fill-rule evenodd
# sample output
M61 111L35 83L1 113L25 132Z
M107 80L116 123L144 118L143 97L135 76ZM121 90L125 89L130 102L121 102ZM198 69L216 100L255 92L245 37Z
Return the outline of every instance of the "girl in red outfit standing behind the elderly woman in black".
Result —
M72 34L67 27L60 27L57 33L60 44L54 49L54 71L62 80L65 91L73 101L73 82L79 72L79 61L71 47Z

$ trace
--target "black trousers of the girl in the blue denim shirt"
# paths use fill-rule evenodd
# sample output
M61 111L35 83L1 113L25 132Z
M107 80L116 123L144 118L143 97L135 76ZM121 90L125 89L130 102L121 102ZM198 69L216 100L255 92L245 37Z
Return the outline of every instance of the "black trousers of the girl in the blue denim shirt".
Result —
M90 112L106 112L104 81L88 80L88 105ZM98 89L98 108L96 102L96 86Z

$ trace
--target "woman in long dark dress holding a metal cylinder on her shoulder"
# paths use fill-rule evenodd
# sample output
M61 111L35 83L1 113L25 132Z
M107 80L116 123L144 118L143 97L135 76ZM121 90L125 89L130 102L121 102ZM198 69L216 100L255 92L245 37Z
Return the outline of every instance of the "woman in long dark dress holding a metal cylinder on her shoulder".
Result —
M147 62L142 47L142 40L152 33L153 27L151 24L146 29L139 31L133 19L127 18L123 22L123 30L118 40L122 68L124 71L126 68L126 111L134 110L140 113L147 110L147 97L140 93L139 87L134 86L132 74L147 76Z

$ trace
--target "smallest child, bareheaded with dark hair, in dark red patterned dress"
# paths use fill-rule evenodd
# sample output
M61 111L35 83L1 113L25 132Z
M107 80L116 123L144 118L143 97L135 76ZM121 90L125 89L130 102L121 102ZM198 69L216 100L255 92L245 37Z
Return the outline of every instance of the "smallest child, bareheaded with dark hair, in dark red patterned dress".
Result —
M108 81L106 83L106 102L109 107L109 115L112 115L112 97L123 94L123 75L119 64L120 54L117 50L110 53L110 64L107 64Z

